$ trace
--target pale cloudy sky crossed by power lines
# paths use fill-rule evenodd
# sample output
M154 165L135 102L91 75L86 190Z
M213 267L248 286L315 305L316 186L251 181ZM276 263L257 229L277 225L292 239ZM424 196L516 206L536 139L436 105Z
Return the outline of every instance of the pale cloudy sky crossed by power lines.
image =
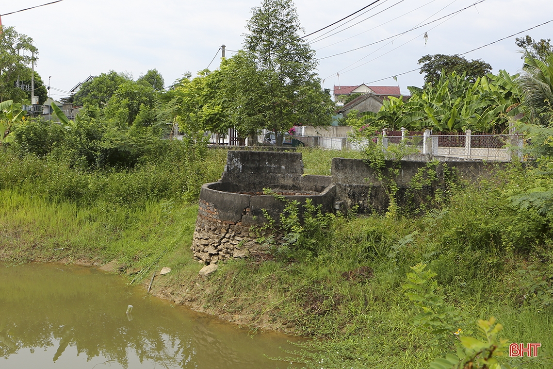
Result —
M0 0L0 14L50 1ZM301 35L373 2L296 0L305 29ZM208 66L217 69L220 46L226 45L227 57L234 54L231 50L242 49L251 10L260 4L261 0L63 0L2 15L2 24L33 38L39 50L35 70L45 84L50 77L51 97L58 100L88 76L110 70L137 79L155 68L169 86L186 72L194 76ZM458 12L463 8L467 9ZM458 13L447 16L454 12ZM441 17L445 18L437 20ZM306 39L320 59L317 72L324 88L364 83L399 86L408 95L407 87L421 87L423 76L419 71L403 73L420 67L421 56L463 54L519 32L515 37L552 38L553 22L525 31L550 20L551 0L378 0ZM494 73L504 69L515 74L523 63L515 37L463 56L486 61ZM356 48L361 49L332 56Z

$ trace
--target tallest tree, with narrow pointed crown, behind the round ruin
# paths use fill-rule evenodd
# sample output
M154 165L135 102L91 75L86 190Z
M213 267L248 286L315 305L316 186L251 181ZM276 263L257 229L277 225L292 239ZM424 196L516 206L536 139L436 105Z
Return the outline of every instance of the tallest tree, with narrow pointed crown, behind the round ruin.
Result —
M293 124L313 122L314 116L317 124L330 124L332 101L314 72L315 51L300 38L303 29L293 2L263 0L252 9L246 28L247 51L221 68L222 100L238 131L245 135L268 128L279 137Z

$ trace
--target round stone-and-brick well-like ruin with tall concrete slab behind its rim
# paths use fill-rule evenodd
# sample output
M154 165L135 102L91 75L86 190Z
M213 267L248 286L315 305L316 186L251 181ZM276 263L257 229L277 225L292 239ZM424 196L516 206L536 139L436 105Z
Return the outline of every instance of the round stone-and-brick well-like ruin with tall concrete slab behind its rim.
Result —
M300 220L307 199L323 212L333 212L336 190L331 177L302 174L299 153L229 151L221 180L204 184L200 191L194 258L210 264L266 251L251 230L266 223L265 215L278 224L286 201L299 202ZM264 195L265 188L286 201Z

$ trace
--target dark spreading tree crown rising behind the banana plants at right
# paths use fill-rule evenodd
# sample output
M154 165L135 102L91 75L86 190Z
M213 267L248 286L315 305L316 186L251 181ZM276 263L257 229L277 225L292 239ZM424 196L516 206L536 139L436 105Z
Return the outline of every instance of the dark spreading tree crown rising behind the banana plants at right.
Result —
M469 82L475 82L478 77L487 75L492 71L492 66L485 61L471 60L458 55L425 55L419 59L418 64L422 64L420 74L425 74L425 84L436 84L444 72L446 75L456 72L458 75L465 75Z

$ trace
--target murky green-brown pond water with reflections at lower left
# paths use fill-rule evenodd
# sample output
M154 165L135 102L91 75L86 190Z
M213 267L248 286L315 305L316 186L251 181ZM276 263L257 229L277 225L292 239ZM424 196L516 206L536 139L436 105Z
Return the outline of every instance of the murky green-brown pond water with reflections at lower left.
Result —
M0 368L283 368L264 355L283 356L287 339L249 336L93 268L0 266Z

